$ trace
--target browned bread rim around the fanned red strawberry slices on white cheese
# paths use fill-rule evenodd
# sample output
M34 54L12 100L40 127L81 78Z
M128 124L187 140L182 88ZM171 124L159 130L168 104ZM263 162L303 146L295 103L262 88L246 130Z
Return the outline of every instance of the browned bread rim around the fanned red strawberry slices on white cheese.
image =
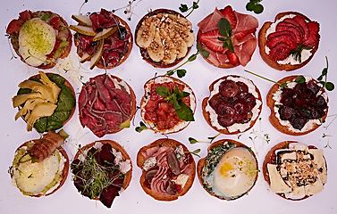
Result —
M274 22L281 19L283 16L290 15L290 14L298 15L299 17L303 18L305 21L310 21L307 16L303 15L300 12L280 12L276 15ZM269 57L269 55L265 53L265 45L266 45L265 34L266 34L266 30L269 29L269 27L272 24L273 23L271 21L265 21L264 25L261 27L260 31L258 32L258 47L259 47L260 55L262 59L265 61L265 63L275 70L291 71L291 70L297 70L305 66L308 62L310 62L310 60L313 58L314 54L316 53L318 49L319 43L316 46L314 46L314 48L311 50L312 54L310 55L308 60L306 60L305 62L301 62L296 65L291 65L291 63L279 64L277 62L274 62L274 60L272 60Z

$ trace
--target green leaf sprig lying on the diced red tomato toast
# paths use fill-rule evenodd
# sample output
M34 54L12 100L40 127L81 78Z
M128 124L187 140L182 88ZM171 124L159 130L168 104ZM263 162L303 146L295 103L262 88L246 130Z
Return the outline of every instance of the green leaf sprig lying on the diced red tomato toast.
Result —
M165 86L157 86L156 93L164 96L165 101L172 103L177 116L184 121L194 121L193 111L185 102L181 101L183 98L190 95L188 92L180 92L178 86L175 86L173 93Z

